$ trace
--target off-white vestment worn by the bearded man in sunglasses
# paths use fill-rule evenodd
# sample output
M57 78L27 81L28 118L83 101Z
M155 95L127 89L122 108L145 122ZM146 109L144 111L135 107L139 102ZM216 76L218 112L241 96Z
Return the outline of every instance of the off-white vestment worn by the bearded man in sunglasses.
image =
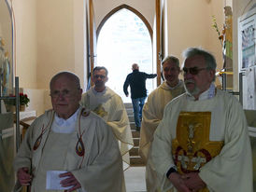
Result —
M152 162L161 181L161 191L173 190L166 172L175 165L172 141L177 138L180 112L210 112L209 141L224 142L220 154L199 171L210 192L252 192L252 159L247 120L240 103L227 92L217 90L211 99L192 101L186 93L168 103L154 134Z

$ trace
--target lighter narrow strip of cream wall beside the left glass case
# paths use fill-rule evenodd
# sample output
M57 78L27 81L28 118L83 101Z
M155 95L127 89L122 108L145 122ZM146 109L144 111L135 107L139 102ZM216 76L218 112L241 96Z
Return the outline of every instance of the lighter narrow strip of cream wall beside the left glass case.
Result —
M13 1L16 36L16 75L20 77L20 87L36 88L36 1Z

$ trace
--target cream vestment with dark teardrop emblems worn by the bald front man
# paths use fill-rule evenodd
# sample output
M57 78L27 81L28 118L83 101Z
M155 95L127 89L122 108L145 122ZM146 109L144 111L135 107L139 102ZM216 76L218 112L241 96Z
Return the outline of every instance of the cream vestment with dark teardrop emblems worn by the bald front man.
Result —
M106 122L80 107L75 130L59 133L51 129L53 119L52 110L36 118L14 160L15 171L27 167L32 173L31 191L46 191L47 171L71 171L87 192L120 192L121 154ZM20 189L17 183L14 191Z

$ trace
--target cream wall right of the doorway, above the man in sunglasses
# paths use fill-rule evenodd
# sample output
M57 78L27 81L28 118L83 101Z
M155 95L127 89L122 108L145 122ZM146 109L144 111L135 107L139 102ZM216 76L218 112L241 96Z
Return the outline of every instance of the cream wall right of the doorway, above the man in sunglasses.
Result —
M185 48L206 48L216 56L220 69L220 40L211 25L212 15L215 15L221 31L224 17L222 7L221 1L167 1L169 54L178 56L182 62L181 53Z

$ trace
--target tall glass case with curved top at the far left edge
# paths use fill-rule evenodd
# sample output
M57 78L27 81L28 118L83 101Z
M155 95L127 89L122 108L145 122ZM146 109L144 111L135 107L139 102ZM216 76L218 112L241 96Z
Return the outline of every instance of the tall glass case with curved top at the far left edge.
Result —
M0 191L11 191L15 183L12 162L20 144L19 97L11 97L14 91L19 94L19 78L15 79L14 86L12 14L8 1L0 0ZM16 127L7 103L16 104Z

